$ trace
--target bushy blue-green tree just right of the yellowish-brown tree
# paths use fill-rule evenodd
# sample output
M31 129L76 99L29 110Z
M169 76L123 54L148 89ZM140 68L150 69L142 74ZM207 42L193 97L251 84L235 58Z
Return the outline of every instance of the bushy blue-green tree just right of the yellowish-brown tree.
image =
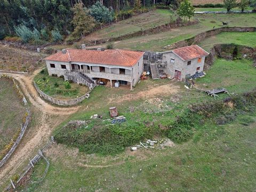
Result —
M100 23L111 22L114 19L114 11L110 7L108 9L106 6L102 5L100 2L96 2L90 8L90 15Z

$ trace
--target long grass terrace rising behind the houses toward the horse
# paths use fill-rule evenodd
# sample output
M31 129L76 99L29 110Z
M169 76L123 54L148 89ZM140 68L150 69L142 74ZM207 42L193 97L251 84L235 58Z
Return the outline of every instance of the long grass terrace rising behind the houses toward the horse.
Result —
M180 27L148 36L139 36L114 42L114 48L132 50L165 51L164 46L193 37L206 30L220 28L221 22L229 22L230 27L254 27L256 14L205 14L196 15L200 23L193 26ZM239 36L239 35L238 35ZM241 33L243 36L243 33ZM229 38L231 39L231 37ZM104 47L106 44L92 47Z

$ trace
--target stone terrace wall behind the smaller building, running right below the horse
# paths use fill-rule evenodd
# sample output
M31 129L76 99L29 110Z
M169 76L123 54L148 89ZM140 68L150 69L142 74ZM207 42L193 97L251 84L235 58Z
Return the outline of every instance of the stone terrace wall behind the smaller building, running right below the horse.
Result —
M176 42L172 45L167 45L164 48L165 49L177 49L177 48L184 47L184 46L194 45L194 44L197 44L197 43L203 41L206 38L209 38L214 35L218 35L222 32L255 32L255 31L256 31L256 27L222 27L219 29L212 29L209 31L205 31L201 34L194 36L194 37L185 39L183 41Z

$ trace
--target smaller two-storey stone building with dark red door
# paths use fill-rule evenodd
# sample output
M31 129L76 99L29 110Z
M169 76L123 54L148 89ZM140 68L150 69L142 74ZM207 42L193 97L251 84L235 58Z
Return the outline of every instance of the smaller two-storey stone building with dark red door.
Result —
M165 64L163 70L167 75L180 81L186 81L196 73L202 72L205 57L209 55L198 45L181 47L162 54Z

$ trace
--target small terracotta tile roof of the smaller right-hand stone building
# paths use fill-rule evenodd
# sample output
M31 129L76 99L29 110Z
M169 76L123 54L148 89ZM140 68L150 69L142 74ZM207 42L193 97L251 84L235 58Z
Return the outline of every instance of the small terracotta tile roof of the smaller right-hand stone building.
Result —
M208 52L204 51L198 45L181 47L179 49L172 50L172 52L185 61L209 55Z

